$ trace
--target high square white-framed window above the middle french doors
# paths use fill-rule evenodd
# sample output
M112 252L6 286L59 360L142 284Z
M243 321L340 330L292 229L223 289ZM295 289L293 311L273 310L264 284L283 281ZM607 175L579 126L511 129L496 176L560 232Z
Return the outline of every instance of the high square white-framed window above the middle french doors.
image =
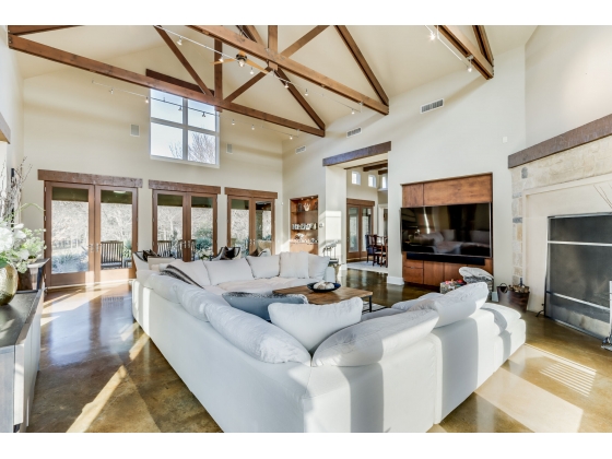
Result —
M219 166L219 119L213 106L151 90L151 157Z

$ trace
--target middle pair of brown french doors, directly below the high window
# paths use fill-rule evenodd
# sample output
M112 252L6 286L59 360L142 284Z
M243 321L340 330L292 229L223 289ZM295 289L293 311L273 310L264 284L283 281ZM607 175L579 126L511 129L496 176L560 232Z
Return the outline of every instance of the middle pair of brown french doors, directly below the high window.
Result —
M153 190L153 250L185 261L216 255L216 195Z

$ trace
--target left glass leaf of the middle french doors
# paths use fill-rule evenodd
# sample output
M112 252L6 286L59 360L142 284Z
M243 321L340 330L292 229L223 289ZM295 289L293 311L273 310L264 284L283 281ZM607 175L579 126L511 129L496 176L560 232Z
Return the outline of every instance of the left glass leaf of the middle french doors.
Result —
M161 257L183 258L183 193L157 193L155 251Z

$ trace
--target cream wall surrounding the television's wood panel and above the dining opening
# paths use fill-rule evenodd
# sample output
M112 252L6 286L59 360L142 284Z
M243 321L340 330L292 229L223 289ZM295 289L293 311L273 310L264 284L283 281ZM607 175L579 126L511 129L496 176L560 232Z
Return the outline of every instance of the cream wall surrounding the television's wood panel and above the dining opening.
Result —
M421 105L440 97L444 108L420 115ZM284 142L285 196L323 193L325 181L318 178L323 174L323 157L390 140L388 281L403 283L398 212L401 184L493 173L495 278L497 283L509 283L511 183L507 156L525 148L523 47L495 56L493 80L485 81L476 72L455 72L391 97L390 107L386 117L364 110L337 120L328 127L326 138L308 139L306 152L299 155L293 143ZM356 127L363 128L362 134L346 139L345 132Z

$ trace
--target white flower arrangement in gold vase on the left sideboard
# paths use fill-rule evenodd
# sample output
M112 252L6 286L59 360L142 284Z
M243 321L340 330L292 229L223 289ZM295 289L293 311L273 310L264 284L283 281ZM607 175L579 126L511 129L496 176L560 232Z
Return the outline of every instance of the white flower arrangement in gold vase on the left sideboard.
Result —
M9 186L4 186L5 164L2 167L2 190L0 191L0 306L13 299L17 290L17 272L26 272L27 264L35 261L45 250L40 237L43 229L25 228L15 220L21 211L31 204L21 204L21 189L27 178L23 172L23 161L13 169Z

